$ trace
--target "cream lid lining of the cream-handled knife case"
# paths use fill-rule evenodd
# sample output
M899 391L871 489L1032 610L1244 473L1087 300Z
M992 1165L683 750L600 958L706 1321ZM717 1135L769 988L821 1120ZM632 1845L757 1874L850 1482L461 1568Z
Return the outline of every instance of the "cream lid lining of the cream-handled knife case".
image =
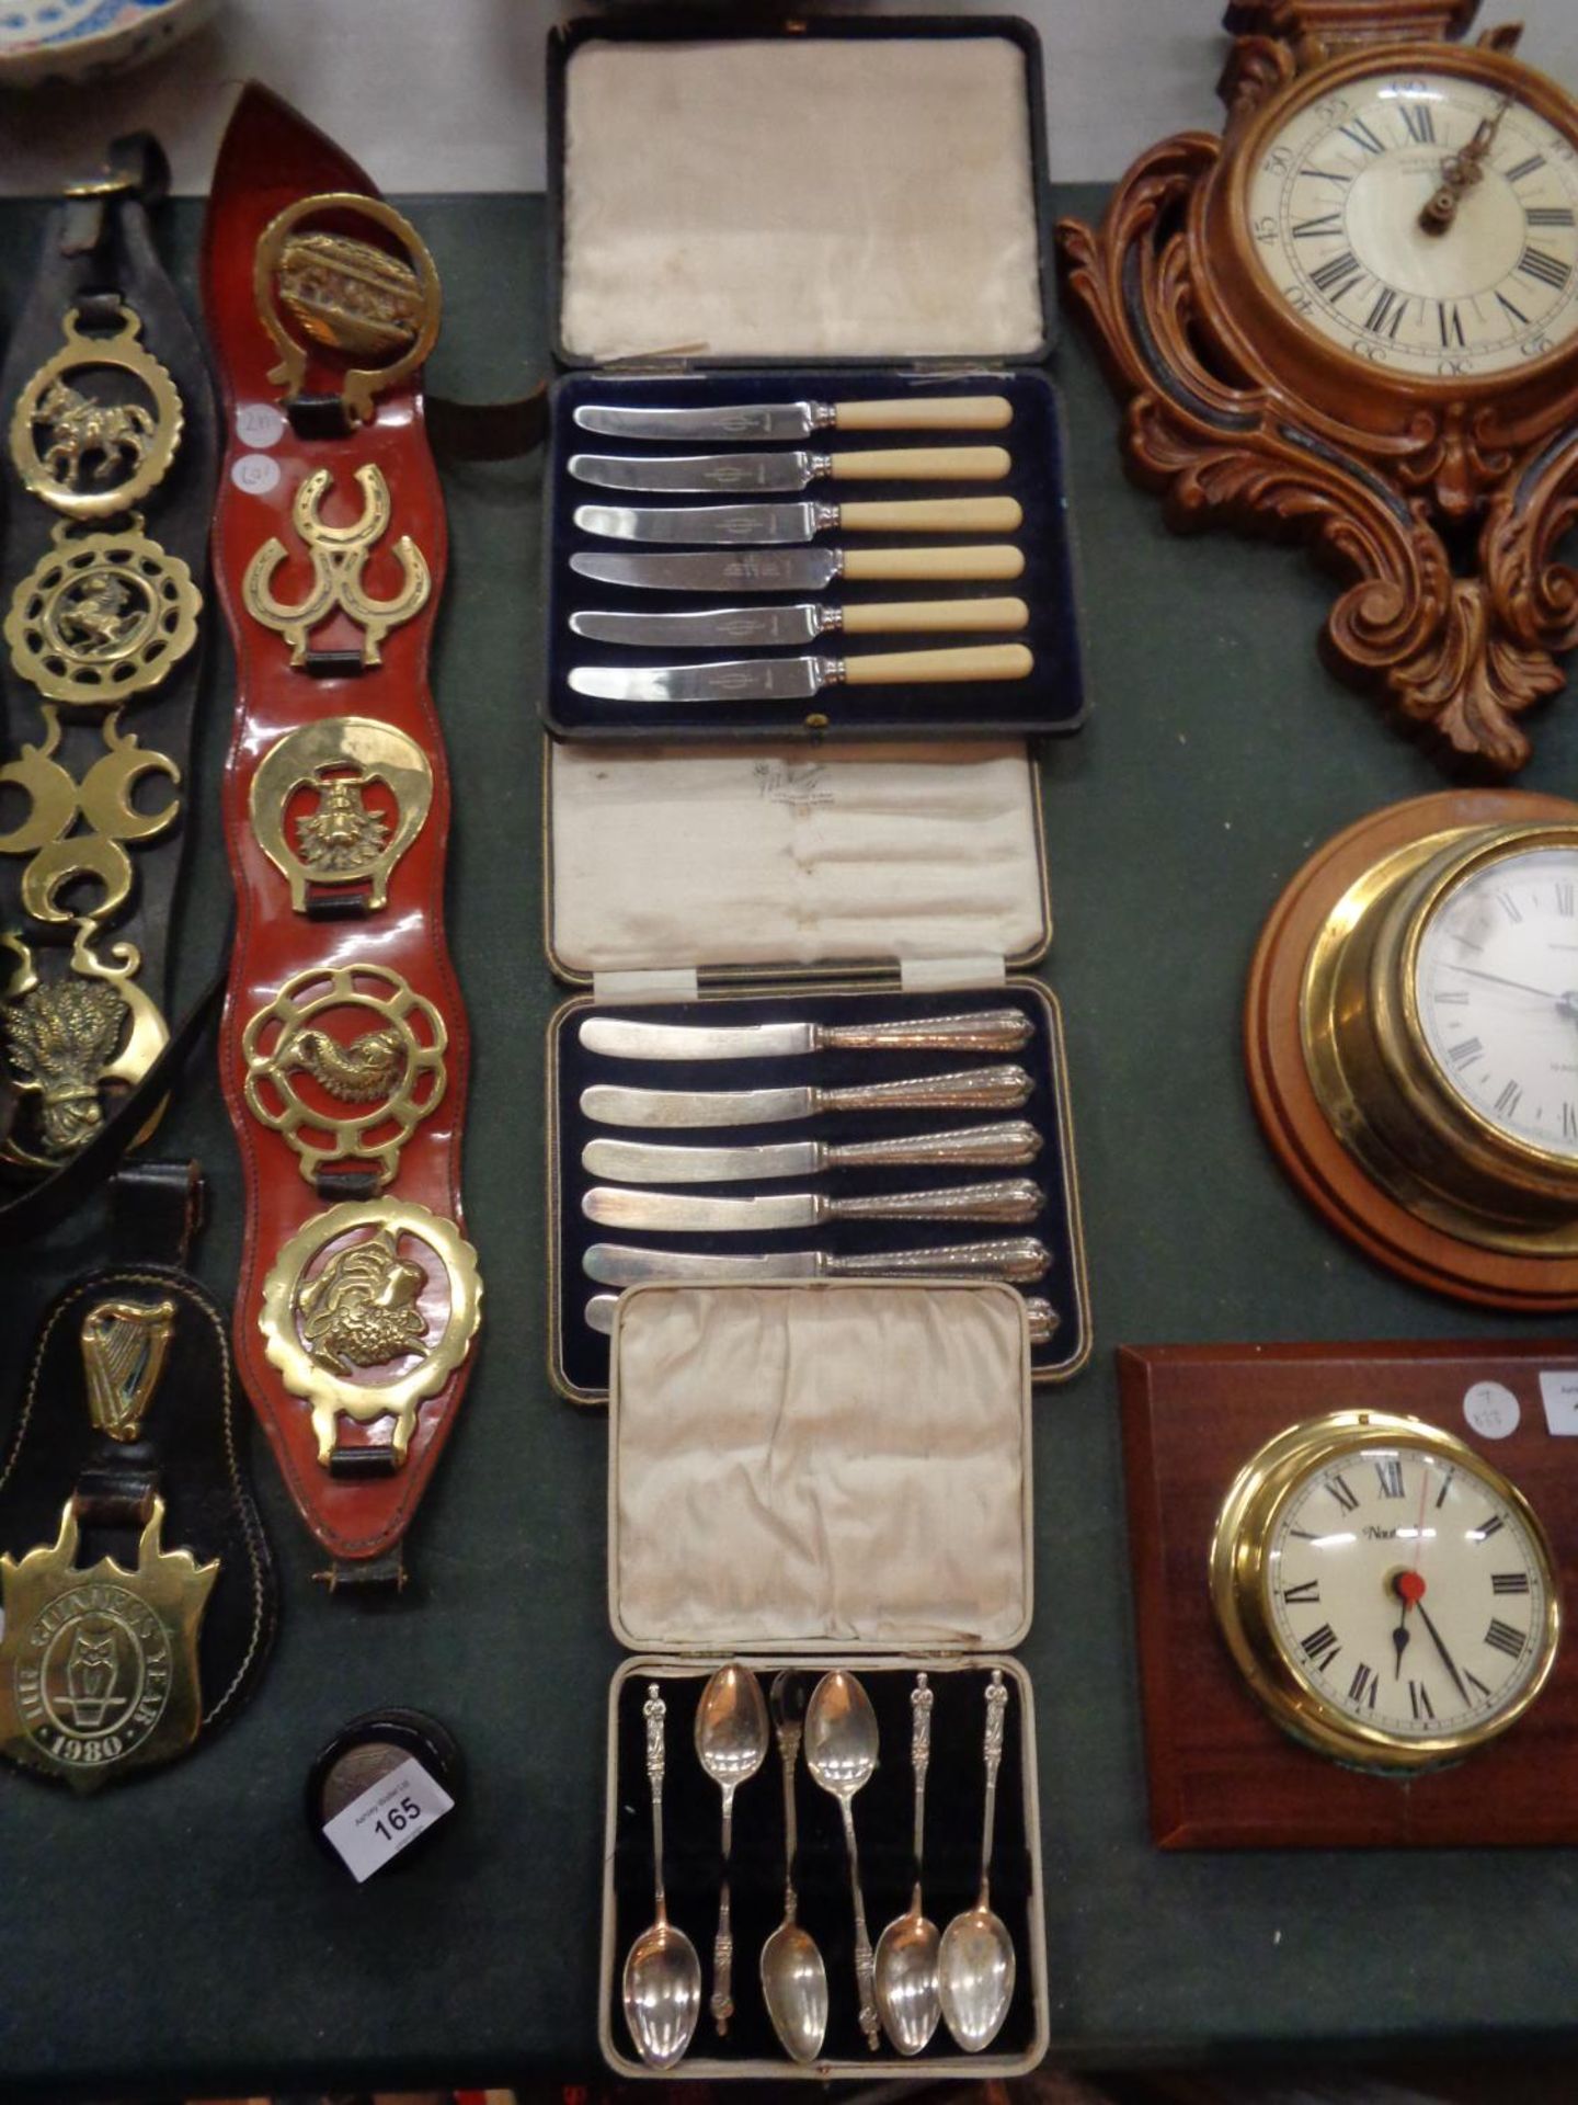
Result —
M564 349L1033 358L1033 181L1006 36L589 38L566 69Z

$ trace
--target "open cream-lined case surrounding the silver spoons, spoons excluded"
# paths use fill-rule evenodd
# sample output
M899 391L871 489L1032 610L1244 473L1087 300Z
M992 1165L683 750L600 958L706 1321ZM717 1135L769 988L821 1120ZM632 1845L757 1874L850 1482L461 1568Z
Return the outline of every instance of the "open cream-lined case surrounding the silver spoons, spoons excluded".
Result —
M1031 1623L1029 1343L1018 1297L997 1284L646 1284L614 1320L608 1417L608 1608L635 1657L608 1697L608 1800L600 2044L621 2076L654 2076L621 2002L625 1956L652 1922L644 1701L665 1720L669 1918L703 1970L690 2052L673 2078L1002 2078L1046 2052L1048 1981L1035 1711L1012 1657ZM684 1518L684 1526L677 1522ZM734 2017L707 2012L717 1922L720 1793L696 1760L696 1701L715 1667L772 1676L829 1667L861 1678L879 1726L877 1768L854 1798L865 1916L875 1945L909 1907L911 1705L934 1690L926 1785L924 1909L938 1926L974 1905L980 1871L985 1688L1008 1684L991 1905L1014 1943L1002 2031L962 2052L869 2052L856 2025L854 1928L839 1810L795 1775L800 1920L829 1985L823 2057L778 2046L760 1981L785 1907L776 1743L734 1800L730 1861Z

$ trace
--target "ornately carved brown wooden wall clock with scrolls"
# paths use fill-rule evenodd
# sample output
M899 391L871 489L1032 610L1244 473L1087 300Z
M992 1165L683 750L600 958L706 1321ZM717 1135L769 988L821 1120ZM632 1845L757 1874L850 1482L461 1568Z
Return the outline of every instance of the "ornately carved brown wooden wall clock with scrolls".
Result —
M1170 524L1307 539L1334 667L1511 773L1578 644L1578 103L1477 6L1233 0L1222 137L1058 244Z

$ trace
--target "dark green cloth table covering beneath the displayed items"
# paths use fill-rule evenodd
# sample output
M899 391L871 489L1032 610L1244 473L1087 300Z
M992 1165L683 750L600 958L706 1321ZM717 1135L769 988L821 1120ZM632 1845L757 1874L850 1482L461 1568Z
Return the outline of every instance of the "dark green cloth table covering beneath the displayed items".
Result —
M1092 210L1079 189L1058 208ZM545 368L543 206L406 206L446 328L431 385L497 398ZM191 290L198 206L168 215ZM0 208L0 299L42 206ZM1056 939L1096 1351L1035 1404L1035 1627L1052 2054L1073 2063L1572 2038L1578 1859L1565 1852L1157 1855L1147 1840L1113 1347L1195 1339L1498 1337L1340 1242L1275 1168L1239 1057L1260 920L1328 834L1441 787L1439 766L1315 659L1328 604L1294 549L1174 539L1134 490L1086 343L1056 356L1071 434L1090 722L1046 764ZM149 1781L76 1800L0 1775L0 2082L63 2097L507 2080L595 2063L606 1429L545 1375L534 463L446 474L436 690L454 775L450 933L476 1046L465 1196L488 1280L465 1415L400 1602L328 1598L252 1434L284 1627L246 1716ZM217 627L217 625L215 625ZM191 783L185 975L225 928L219 653ZM1523 781L1570 789L1578 707L1536 722ZM202 1156L202 1271L238 1257L213 1061L162 1145ZM38 1305L90 1223L6 1261L15 1389ZM1555 1330L1561 1326L1546 1324ZM1565 1324L1572 1335L1572 1324ZM1528 1335L1528 1332L1519 1332ZM0 1415L8 1415L4 1404ZM421 1863L356 1888L309 1844L320 1741L375 1703L442 1716L465 1804Z

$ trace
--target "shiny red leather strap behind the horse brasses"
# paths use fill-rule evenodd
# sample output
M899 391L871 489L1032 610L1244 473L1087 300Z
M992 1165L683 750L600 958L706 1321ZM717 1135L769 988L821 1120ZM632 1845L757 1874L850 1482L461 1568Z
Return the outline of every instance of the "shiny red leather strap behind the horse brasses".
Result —
M379 964L433 1002L448 1027L448 1088L440 1107L406 1139L387 1198L414 1200L463 1227L459 1196L461 1120L467 1084L467 1031L461 994L444 943L444 846L448 770L427 686L427 650L444 583L446 537L438 474L423 432L419 375L377 398L375 415L345 438L303 440L278 415L280 387L267 373L278 352L259 322L252 257L265 225L297 198L322 192L377 196L330 141L263 88L244 91L221 145L204 229L202 286L215 362L223 381L225 465L215 518L215 583L236 640L236 737L225 770L225 834L238 895L238 933L221 1031L221 1078L246 1175L246 1250L236 1299L236 1356L248 1394L274 1442L290 1492L320 1543L337 1558L387 1551L406 1528L454 1421L469 1360L446 1387L421 1402L404 1467L385 1478L341 1480L318 1461L311 1408L288 1394L265 1358L259 1328L263 1284L278 1250L332 1198L301 1175L280 1132L263 1126L242 1092L242 1031L292 975L307 966ZM309 362L305 387L337 392L339 368ZM408 535L431 575L427 604L393 627L381 665L353 676L313 678L290 667L290 644L263 627L242 602L246 566L276 537L288 552L274 592L299 602L313 570L292 524L301 482L328 469L320 516L353 522L364 503L356 469L377 467L391 499L389 526L372 547L362 583L370 598L402 589L396 543ZM313 648L358 650L360 629L335 613L311 634ZM248 796L259 760L303 724L362 716L391 724L423 747L433 770L433 800L421 834L389 874L387 905L351 920L311 920L292 911L286 878L252 831ZM389 1421L339 1421L339 1446L383 1444Z

